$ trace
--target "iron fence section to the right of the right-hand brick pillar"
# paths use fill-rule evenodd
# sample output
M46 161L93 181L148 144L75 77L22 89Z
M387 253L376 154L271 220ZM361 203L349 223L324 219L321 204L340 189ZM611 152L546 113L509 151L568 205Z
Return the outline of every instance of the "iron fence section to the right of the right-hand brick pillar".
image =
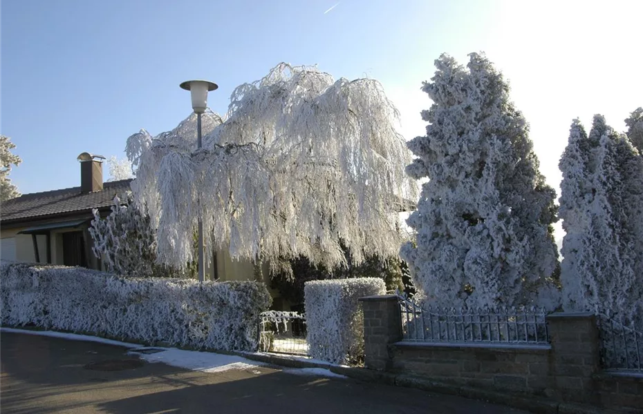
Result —
M602 313L597 320L603 367L643 373L643 328L637 330Z

